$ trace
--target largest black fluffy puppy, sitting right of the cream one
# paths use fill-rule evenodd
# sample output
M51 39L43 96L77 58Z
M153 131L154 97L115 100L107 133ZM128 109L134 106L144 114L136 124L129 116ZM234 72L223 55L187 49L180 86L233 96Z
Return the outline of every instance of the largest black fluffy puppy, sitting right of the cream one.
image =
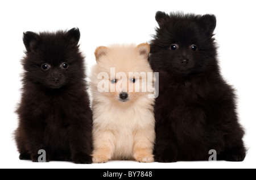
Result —
M156 12L150 64L159 72L155 161L242 161L246 149L234 91L216 59L214 15Z

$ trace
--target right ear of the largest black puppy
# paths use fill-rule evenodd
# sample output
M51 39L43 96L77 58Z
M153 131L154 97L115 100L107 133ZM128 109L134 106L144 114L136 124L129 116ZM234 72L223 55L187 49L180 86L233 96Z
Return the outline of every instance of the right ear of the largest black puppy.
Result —
M208 35L212 35L216 27L216 17L214 15L205 14L199 18L199 25Z

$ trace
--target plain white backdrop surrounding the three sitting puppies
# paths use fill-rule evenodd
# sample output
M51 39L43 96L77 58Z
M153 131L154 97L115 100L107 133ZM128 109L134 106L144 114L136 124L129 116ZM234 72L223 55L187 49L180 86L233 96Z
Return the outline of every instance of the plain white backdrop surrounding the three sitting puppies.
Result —
M0 168L256 168L255 131L255 2L244 1L1 1L0 2ZM138 163L109 161L76 165L72 162L20 161L13 140L18 125L14 113L20 99L20 59L24 56L24 31L56 31L78 27L80 49L88 73L96 63L94 50L112 43L143 43L155 34L156 11L214 14L215 37L221 72L237 90L238 115L246 130L249 149L243 162Z

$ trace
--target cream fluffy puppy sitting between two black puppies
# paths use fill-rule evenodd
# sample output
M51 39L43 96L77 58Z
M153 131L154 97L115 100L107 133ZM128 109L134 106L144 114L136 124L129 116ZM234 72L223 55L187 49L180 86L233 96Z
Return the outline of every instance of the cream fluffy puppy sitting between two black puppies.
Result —
M98 47L95 51L97 64L92 69L92 111L93 111L93 162L101 163L108 160L136 160L138 162L152 162L154 157L154 98L148 98L149 91L139 92L129 90L137 83L148 77L136 79L133 83L129 72L151 72L148 64L150 46L147 43L135 45L112 45ZM115 68L113 77L110 68ZM100 73L107 73L108 77L98 77ZM127 83L118 86L121 81L119 72L127 76ZM144 79L147 78L147 79ZM111 83L116 79L115 83ZM123 79L125 80L125 79ZM98 91L100 81L107 82L109 92ZM114 85L114 92L111 86ZM127 98L120 94L127 91Z

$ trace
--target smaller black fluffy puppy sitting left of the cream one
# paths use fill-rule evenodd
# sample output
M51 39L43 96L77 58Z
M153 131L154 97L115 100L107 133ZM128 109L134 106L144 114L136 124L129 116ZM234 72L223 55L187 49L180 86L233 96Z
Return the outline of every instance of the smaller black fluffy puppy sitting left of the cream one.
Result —
M22 99L15 140L21 160L92 163L92 112L86 92L80 31L24 32Z

